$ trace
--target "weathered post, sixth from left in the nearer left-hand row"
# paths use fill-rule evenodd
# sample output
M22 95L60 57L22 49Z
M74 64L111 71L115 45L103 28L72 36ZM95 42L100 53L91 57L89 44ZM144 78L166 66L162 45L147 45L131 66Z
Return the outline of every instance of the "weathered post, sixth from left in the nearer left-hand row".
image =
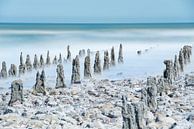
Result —
M100 53L99 51L96 52L95 61L94 61L94 73L101 74L101 61L100 61Z

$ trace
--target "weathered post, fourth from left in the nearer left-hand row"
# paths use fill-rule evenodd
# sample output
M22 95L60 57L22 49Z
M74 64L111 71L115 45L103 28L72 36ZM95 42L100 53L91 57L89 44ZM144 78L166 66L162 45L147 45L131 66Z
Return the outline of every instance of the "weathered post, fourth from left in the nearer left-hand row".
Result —
M71 84L81 83L80 81L80 63L79 57L76 56L72 62L72 75L71 75Z

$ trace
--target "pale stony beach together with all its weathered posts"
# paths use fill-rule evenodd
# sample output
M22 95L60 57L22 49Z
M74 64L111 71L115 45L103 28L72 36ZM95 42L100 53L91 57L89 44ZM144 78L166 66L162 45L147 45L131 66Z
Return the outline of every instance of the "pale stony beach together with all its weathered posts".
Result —
M33 63L26 56L24 63L12 64L7 71L2 62L1 79L25 76L37 69L36 80L26 89L21 79L11 83L11 88L0 94L0 128L10 129L193 129L194 128L194 73L184 74L191 61L192 47L180 48L174 60L164 60L164 72L147 79L121 80L97 79L103 70L123 64L123 46L119 45L118 59L114 47L110 55L104 51L103 67L99 51L91 66L88 49L80 50L72 59L67 46L67 59L55 57L53 62L47 51L46 60L37 55ZM137 54L140 54L137 51ZM80 58L85 57L84 64ZM110 58L109 58L110 57ZM72 61L71 61L72 60ZM65 82L62 63L72 63L71 86ZM56 65L56 84L47 85L44 67ZM84 79L80 78L80 65L84 65ZM42 70L40 70L42 69Z

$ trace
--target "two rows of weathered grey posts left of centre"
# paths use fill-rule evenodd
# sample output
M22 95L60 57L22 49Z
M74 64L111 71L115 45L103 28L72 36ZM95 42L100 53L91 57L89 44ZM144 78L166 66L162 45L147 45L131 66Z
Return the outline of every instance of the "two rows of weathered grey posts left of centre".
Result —
M90 49L87 50L87 55L85 56L85 50L80 50L79 55L77 55L73 60L72 60L72 75L71 75L71 84L79 84L81 83L80 79L80 61L79 57L85 56L84 60L84 77L85 78L91 78L92 73L91 73L91 61L90 61ZM109 59L109 53L108 51L104 51L104 64L103 64L103 70L108 70L110 66L115 66L116 61L115 61L115 52L114 52L114 47L111 49L111 54L110 54L110 59ZM71 52L70 52L70 47L67 47L67 59L66 61L71 61ZM57 65L56 68L56 73L57 73L57 78L56 78L56 85L55 88L65 88L65 76L64 76L64 69L63 69L63 61L62 61L62 56L59 54L59 59L57 60L57 57L54 57L53 64ZM119 46L119 55L118 55L118 63L123 63L123 49L122 49L122 44ZM38 69L38 68L43 68L45 65L49 66L51 65L51 60L49 57L49 51L47 52L47 58L46 62L44 62L44 58L41 55L40 60L38 60L37 55L34 56L34 62L31 64L30 61L30 56L27 55L26 57L26 62L23 63L23 57L22 53L20 55L20 65L19 65L19 75L24 74L26 71L31 71L33 68ZM6 64L3 63L3 66L6 68ZM14 65L15 66L15 65ZM102 68L101 68L101 60L100 60L100 52L97 51L95 54L95 60L94 60L94 74L101 74ZM16 71L16 67L10 68L10 71ZM4 75L4 72L6 73L7 71L1 71L1 74ZM16 74L14 74L16 76ZM39 72L37 71L36 73L36 82L35 85L33 86L33 94L43 94L46 95L46 76L45 76L45 71L44 69ZM9 105L12 105L15 101L20 101L21 103L23 102L23 83L21 80L15 80L11 84L11 100L9 102Z

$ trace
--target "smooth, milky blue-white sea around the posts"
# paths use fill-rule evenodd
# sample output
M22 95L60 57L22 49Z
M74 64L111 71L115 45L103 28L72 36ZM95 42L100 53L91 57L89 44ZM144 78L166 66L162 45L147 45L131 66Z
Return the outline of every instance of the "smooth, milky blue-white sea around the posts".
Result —
M29 54L33 63L34 54L43 54L46 60L47 50L51 60L62 54L66 58L66 47L70 45L72 58L80 49L91 49L91 66L93 71L94 53L100 51L103 66L104 50L114 46L116 61L119 44L123 44L124 64L116 64L97 79L145 78L162 75L165 59L174 59L174 55L183 45L194 44L194 24L0 24L0 62L19 65L19 55L23 52L24 60ZM142 50L141 55L137 51ZM81 78L83 79L83 61L80 58ZM186 72L194 71L192 62ZM64 63L65 81L69 85L71 63ZM0 66L1 68L1 66ZM56 66L45 67L47 85L55 86ZM25 88L35 84L36 71L20 77ZM10 87L16 78L0 79L0 87Z

